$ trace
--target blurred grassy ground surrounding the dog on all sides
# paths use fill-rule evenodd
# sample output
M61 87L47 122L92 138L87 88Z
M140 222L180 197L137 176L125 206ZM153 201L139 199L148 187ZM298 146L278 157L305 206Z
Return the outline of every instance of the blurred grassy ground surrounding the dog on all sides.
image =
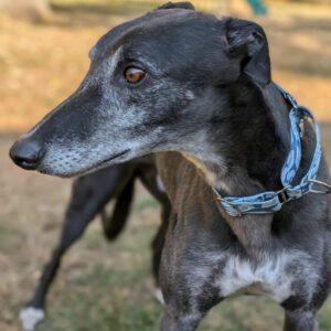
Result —
M72 183L18 169L9 147L77 87L100 35L163 2L0 0L0 330L20 330L19 311L57 242ZM313 110L330 162L331 0L192 2L265 28L274 81ZM115 244L94 222L66 255L39 331L158 330L162 307L153 296L149 245L159 206L137 190L129 225ZM199 330L276 331L281 322L277 305L242 297L216 307ZM331 330L330 301L320 312L320 330Z

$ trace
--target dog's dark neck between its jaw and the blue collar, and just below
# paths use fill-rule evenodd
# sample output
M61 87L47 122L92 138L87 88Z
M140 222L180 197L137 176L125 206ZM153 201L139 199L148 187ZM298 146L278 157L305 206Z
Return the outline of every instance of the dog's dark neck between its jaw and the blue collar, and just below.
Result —
M288 106L274 84L259 89L242 84L228 90L227 116L207 124L200 149L188 156L209 185L223 196L246 196L279 190L289 149ZM270 245L273 215L231 217L220 206L247 252Z

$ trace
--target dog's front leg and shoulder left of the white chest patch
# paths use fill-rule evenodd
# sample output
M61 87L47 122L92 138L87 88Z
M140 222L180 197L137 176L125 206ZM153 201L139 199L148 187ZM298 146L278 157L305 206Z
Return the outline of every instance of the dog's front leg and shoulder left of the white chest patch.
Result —
M166 301L162 331L193 331L211 308L221 301L217 260L209 242L199 243L181 221L171 215L160 266L160 285ZM197 238L196 238L197 237ZM211 260L211 257L213 260Z

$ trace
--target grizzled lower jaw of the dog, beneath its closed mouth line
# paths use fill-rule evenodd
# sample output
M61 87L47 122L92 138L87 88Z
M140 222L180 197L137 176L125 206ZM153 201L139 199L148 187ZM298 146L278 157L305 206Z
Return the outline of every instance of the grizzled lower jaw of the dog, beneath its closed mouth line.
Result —
M77 169L74 167L75 164L73 164L73 167L71 167L70 169L64 169L64 168L54 169L52 167L43 167L43 168L38 169L38 171L43 174L54 175L54 177L60 177L60 178L73 178L73 177L85 175L85 174L95 172L99 169L107 168L110 166L115 166L115 164L131 160L132 158L129 157L129 151L130 150L127 149L127 150L116 153L116 154L111 156L110 158L107 158L106 160L103 160L98 163L87 164L83 169L82 168Z

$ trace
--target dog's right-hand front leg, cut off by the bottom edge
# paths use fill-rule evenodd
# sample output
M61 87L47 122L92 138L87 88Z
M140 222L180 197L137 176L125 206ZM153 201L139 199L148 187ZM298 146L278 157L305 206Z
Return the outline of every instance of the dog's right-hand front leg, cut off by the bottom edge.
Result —
M311 310L286 310L284 331L318 331L316 313Z

